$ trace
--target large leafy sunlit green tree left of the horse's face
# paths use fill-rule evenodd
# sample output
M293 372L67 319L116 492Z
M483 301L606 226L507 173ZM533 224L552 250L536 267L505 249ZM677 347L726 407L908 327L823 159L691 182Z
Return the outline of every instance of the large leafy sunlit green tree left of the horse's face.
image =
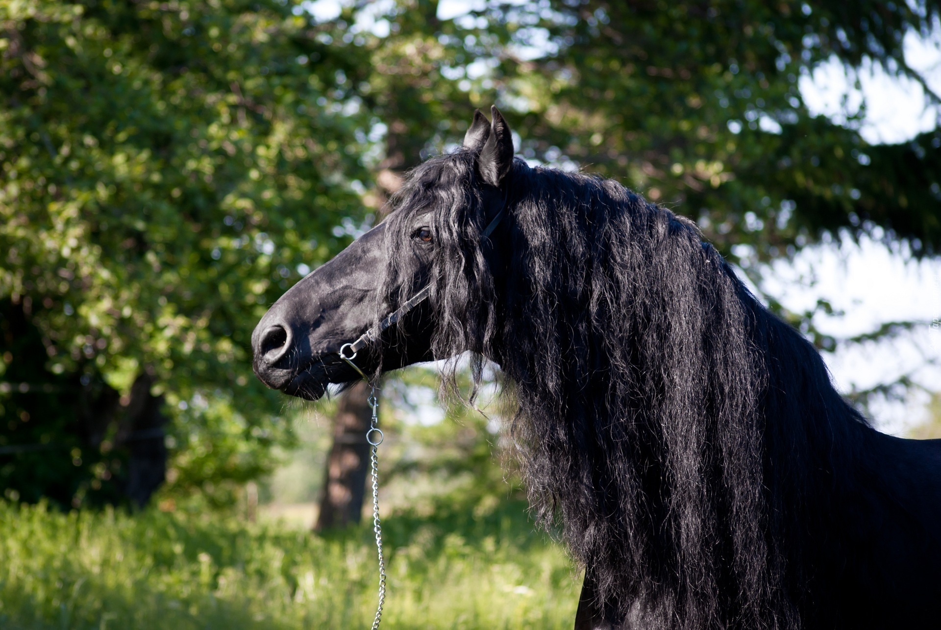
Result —
M146 377L175 487L257 476L290 443L248 336L361 215L370 121L346 75L363 59L338 28L275 1L0 3L0 299L40 342L9 347L7 373L32 362L33 384L79 399L106 384L102 422ZM80 413L0 396L8 486L44 465L12 446L78 434ZM104 424L83 438L96 472L79 499L129 492L104 457L120 423Z

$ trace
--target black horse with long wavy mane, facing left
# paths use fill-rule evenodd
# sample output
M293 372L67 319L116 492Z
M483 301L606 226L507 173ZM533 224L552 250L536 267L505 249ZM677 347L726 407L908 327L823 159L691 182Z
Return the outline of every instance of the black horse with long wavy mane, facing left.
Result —
M499 363L577 628L941 627L941 444L871 428L693 222L514 160L496 108L393 202L264 315L255 372L316 399L364 331L366 373Z

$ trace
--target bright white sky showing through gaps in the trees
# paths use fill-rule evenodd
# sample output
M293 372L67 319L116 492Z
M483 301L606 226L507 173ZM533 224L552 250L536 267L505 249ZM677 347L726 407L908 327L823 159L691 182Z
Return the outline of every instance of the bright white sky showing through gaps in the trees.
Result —
M440 0L438 17L459 18L484 3ZM341 0L318 0L305 7L318 19L328 20L339 14ZM359 24L359 28L382 29L375 11L364 13L368 13L363 19L369 24ZM935 93L941 93L941 24L928 38L909 33L904 51L906 63L921 73ZM927 100L917 82L872 64L848 71L833 58L801 76L798 85L812 114L825 115L839 124L858 125L860 135L871 144L904 142L931 131L941 120L941 107ZM858 121L853 117L860 112L863 116ZM922 322L891 342L843 347L825 354L842 392L865 389L901 375L941 391L941 260L919 263L906 254L904 250L889 251L869 238L855 243L837 237L805 248L790 263L778 261L764 270L762 289L792 311L802 312L817 299L829 299L842 315L821 315L815 324L837 338L873 331L889 321ZM915 390L905 400L876 401L869 409L870 418L877 428L902 435L927 418L927 400L924 392ZM422 415L439 417L431 410Z

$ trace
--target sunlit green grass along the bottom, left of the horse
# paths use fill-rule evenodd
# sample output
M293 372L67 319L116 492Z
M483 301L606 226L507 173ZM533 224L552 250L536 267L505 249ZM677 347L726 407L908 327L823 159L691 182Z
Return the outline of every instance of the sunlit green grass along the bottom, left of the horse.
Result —
M580 580L564 551L522 504L489 508L384 522L383 628L572 627ZM0 502L0 628L368 628L371 536Z

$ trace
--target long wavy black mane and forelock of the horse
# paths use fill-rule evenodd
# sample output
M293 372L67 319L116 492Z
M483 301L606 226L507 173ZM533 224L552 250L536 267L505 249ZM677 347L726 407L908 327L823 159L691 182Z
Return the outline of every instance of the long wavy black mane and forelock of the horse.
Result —
M561 526L612 616L802 626L827 588L807 558L833 543L812 532L854 483L839 476L866 421L692 221L521 161L507 186L502 235L481 241L496 208L474 154L414 170L389 219L389 286L401 236L432 210L435 356L470 350L478 379L486 357L515 384L510 430L539 518ZM505 268L490 247L508 249Z

